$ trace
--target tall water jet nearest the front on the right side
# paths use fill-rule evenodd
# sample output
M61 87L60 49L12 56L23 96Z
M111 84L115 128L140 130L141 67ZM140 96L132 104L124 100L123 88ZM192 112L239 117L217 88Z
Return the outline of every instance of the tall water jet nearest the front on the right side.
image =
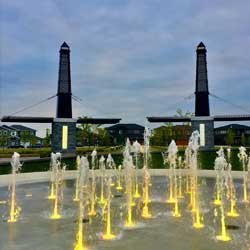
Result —
M215 159L214 169L216 171L216 176L218 178L218 193L220 196L220 212L221 212L221 234L216 236L216 239L219 241L230 241L231 238L227 234L226 224L225 224L225 203L226 203L226 175L225 169L228 164L224 156L224 150L221 147L219 151L217 151L217 158Z

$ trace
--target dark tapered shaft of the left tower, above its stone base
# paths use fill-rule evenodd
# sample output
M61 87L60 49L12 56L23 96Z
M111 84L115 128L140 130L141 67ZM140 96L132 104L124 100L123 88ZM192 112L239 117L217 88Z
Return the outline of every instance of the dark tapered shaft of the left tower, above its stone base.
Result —
M70 48L63 43L60 49L58 89L57 89L57 118L72 118L70 76Z

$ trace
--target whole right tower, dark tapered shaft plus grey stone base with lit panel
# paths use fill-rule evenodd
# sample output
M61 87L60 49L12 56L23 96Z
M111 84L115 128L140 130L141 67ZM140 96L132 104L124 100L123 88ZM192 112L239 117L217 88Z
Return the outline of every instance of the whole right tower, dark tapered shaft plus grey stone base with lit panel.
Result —
M206 53L206 47L201 42L196 49L195 117L191 119L192 130L200 132L201 149L214 146L214 118L209 110Z

